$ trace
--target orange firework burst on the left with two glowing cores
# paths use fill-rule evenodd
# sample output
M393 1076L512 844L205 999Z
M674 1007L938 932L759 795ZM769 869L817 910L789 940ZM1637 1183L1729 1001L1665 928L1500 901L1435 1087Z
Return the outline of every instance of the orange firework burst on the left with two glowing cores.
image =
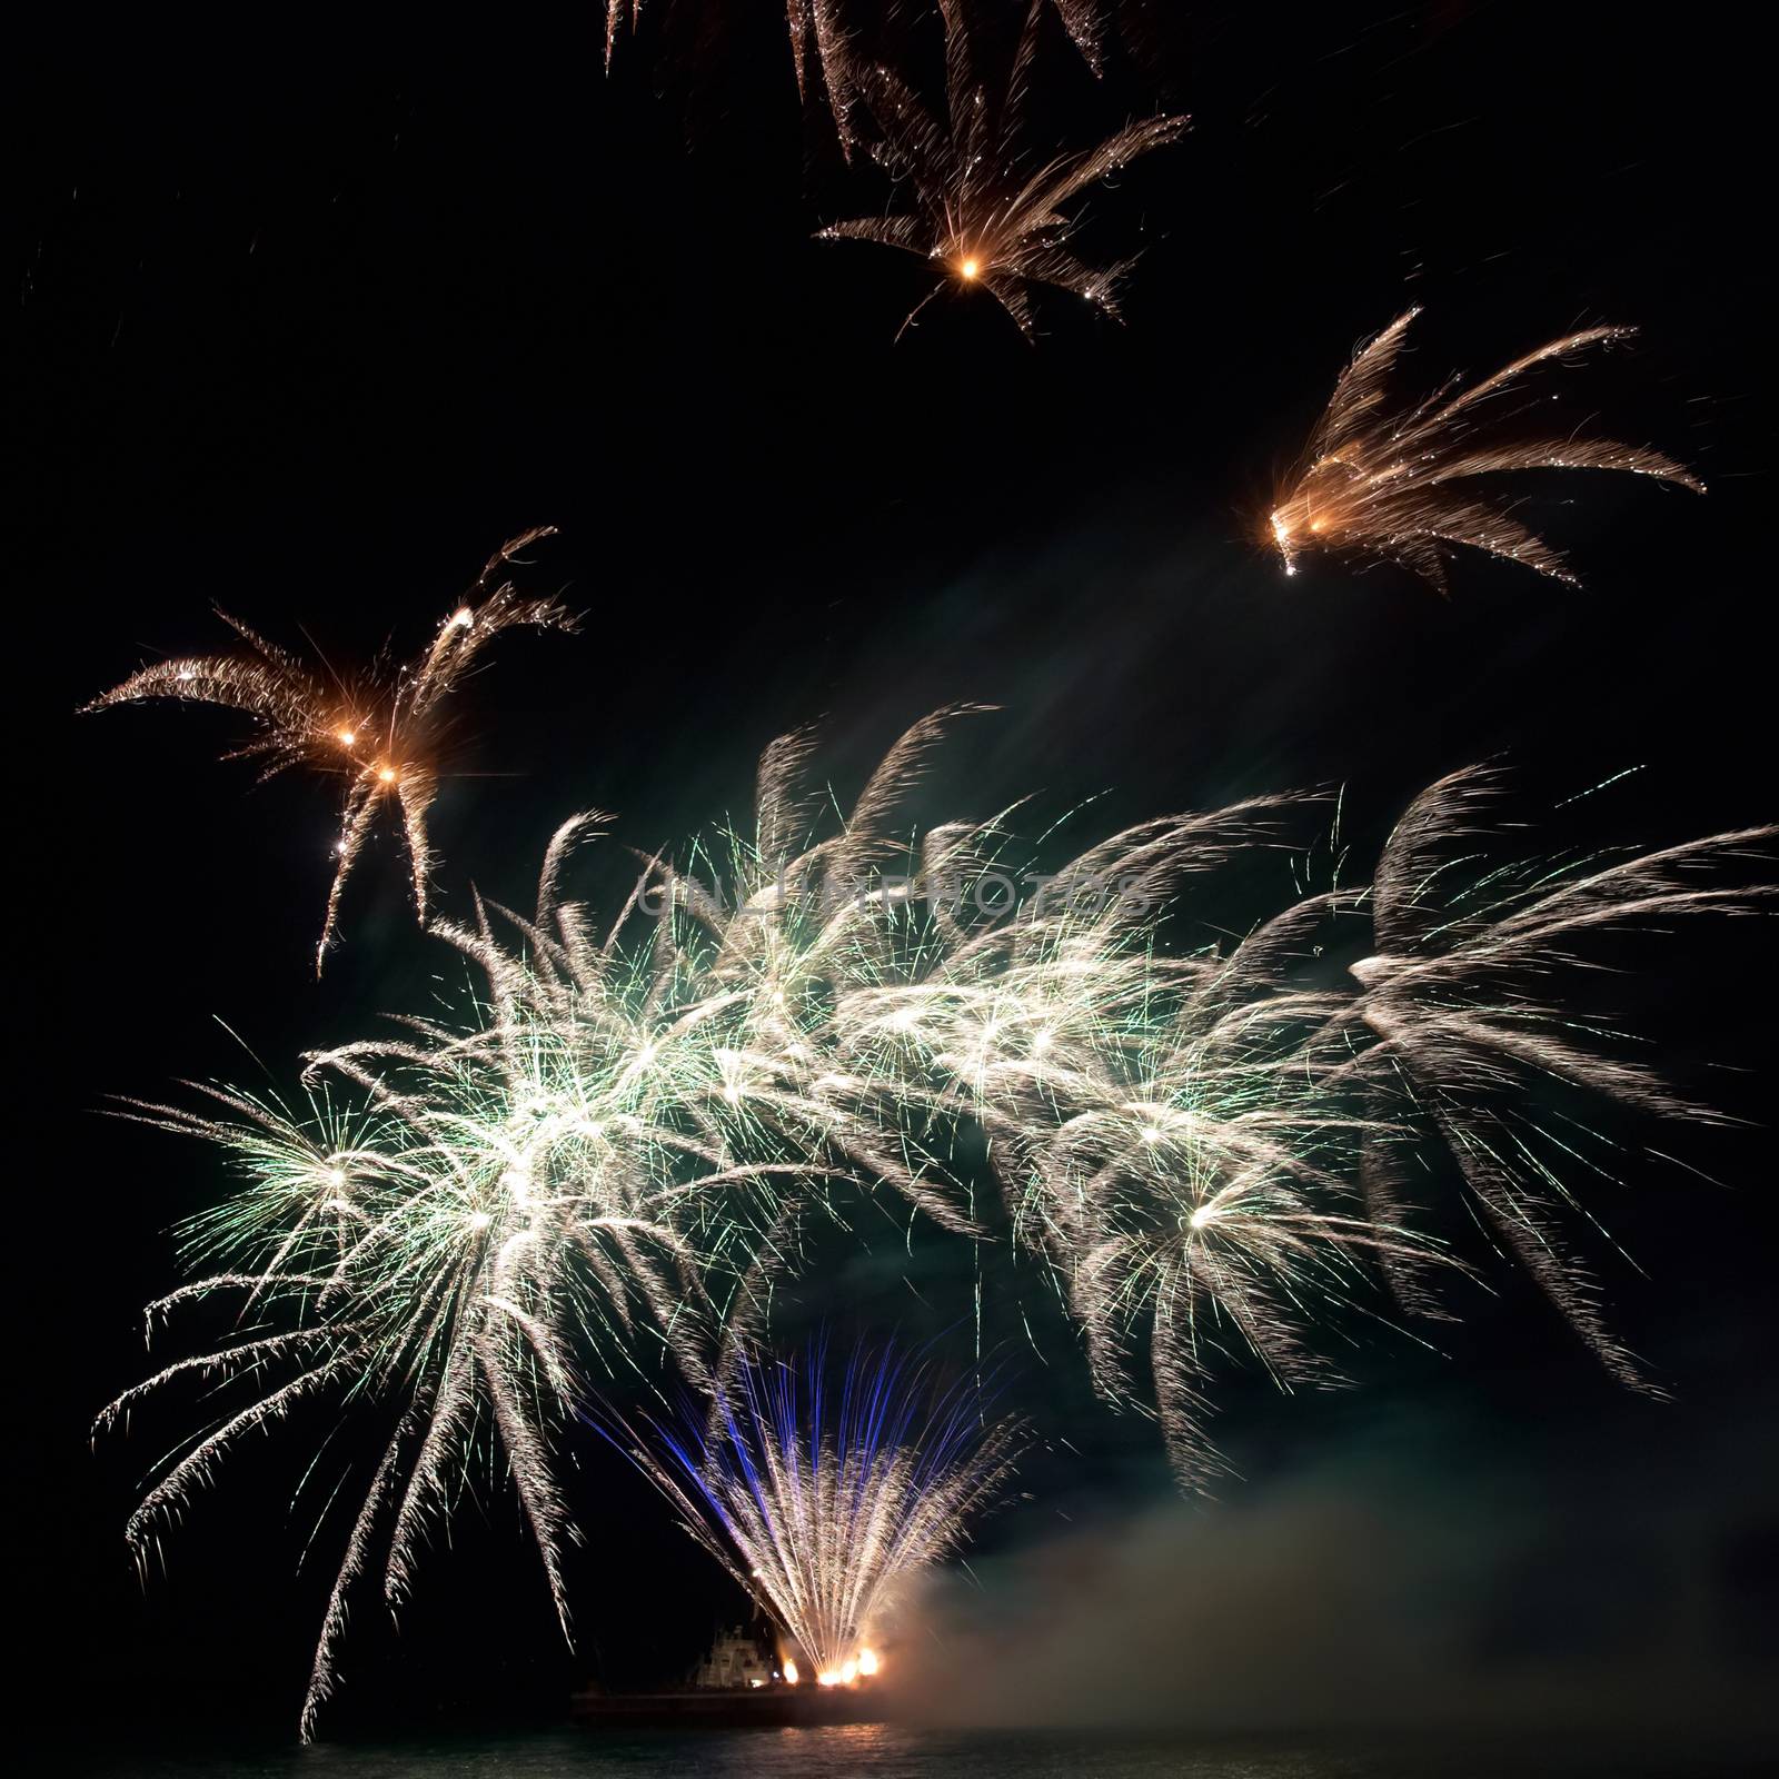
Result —
M345 779L334 877L315 952L317 973L340 916L340 897L365 841L393 813L407 849L415 907L427 918L432 849L427 811L438 795L452 696L503 630L573 630L555 600L521 600L509 580L495 584L521 550L555 527L539 527L502 544L464 601L439 624L427 651L400 667L377 667L342 680L297 660L244 623L219 614L247 644L242 655L203 655L160 662L93 699L85 710L151 697L219 704L253 719L256 735L224 758L262 760L270 777L302 767Z

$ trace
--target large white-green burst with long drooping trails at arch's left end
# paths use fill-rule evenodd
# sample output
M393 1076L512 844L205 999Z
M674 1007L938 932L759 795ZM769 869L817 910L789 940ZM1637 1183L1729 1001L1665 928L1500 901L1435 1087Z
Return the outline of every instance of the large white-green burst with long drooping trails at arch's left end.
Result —
M447 936L495 962L486 941ZM358 1121L299 1119L228 1091L213 1091L222 1117L137 1112L221 1144L249 1174L237 1199L187 1233L189 1258L215 1270L151 1315L238 1293L253 1316L238 1341L164 1368L101 1416L110 1423L192 1373L244 1397L164 1468L130 1523L139 1555L242 1434L299 1398L334 1393L384 1427L329 1599L304 1733L331 1692L347 1594L379 1537L388 1533L393 1605L418 1535L448 1510L487 1439L505 1457L566 1628L550 1445L553 1416L576 1395L576 1348L624 1356L637 1316L653 1315L656 1338L703 1375L704 1279L729 1265L733 1220L708 1206L751 1174L708 1142L710 1059L701 1071L678 1048L651 1050L648 966L614 957L598 998L557 1026L518 1002L514 971L496 964L480 1028L418 1023L406 1039L311 1059L311 1076L361 1091Z

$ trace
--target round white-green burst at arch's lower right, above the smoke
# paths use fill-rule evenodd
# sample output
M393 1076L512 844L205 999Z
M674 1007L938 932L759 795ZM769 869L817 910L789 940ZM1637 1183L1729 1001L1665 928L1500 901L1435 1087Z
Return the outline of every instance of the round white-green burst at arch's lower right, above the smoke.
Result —
M1256 952L1297 943L1297 911L1229 959L1155 968L1055 1130L1023 1194L1069 1256L1069 1299L1101 1391L1124 1395L1133 1341L1179 1480L1220 1469L1204 1386L1231 1347L1283 1384L1336 1382L1309 1336L1372 1284L1381 1256L1437 1258L1364 1217L1352 1160L1373 1128L1322 1087L1329 996L1256 993Z

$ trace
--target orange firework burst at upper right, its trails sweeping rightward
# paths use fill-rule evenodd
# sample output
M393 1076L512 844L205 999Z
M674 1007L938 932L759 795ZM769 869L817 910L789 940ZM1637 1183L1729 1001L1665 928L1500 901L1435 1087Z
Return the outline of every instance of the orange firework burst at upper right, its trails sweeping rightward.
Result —
M1398 315L1354 356L1334 384L1304 455L1270 514L1272 544L1295 573L1311 551L1356 562L1393 560L1446 591L1446 546L1462 544L1574 582L1562 555L1512 512L1487 477L1521 470L1621 470L1704 484L1647 447L1553 429L1521 384L1542 365L1628 340L1633 327L1583 327L1516 358L1493 377L1461 388L1448 379L1414 406L1389 402L1386 382L1409 324Z

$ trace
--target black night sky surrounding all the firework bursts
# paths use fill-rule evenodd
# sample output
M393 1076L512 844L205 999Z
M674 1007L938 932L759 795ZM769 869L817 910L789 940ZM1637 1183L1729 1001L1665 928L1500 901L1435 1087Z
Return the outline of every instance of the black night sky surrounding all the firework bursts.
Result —
M929 69L923 9L888 11L886 44ZM9 57L9 1542L41 1662L14 1711L57 1733L286 1735L329 1580L299 1569L313 1514L286 1510L301 1439L244 1450L146 1589L130 1567L158 1448L94 1453L87 1423L142 1372L169 1226L224 1176L100 1108L263 1080L254 1059L288 1082L438 968L382 845L311 980L333 808L297 774L256 788L219 765L226 717L73 717L141 662L219 644L213 603L343 658L409 649L503 537L560 528L527 585L560 587L584 632L507 639L471 692L487 776L436 815L459 907L471 882L523 900L571 809L653 849L742 811L770 737L822 717L845 790L950 699L1002 710L959 728L934 797L987 815L1105 793L1094 834L1340 783L1363 845L1494 754L1528 815L1646 769L1564 841L1774 815L1772 96L1733 9L1128 0L1099 84L1051 28L1041 133L1160 105L1194 128L1089 206L1091 247L1142 249L1126 324L1059 297L1035 347L957 297L895 343L923 269L809 238L884 187L799 109L781 9L664 5L610 78L600 12L78 11ZM1582 591L1475 557L1450 601L1395 569L1283 578L1258 543L1272 479L1354 342L1411 301L1421 382L1638 324L1583 400L1710 496L1530 491ZM1605 1002L1749 1121L1614 1126L1626 1185L1599 1208L1637 1267L1596 1258L1676 1400L1619 1391L1496 1272L1443 1356L1357 1331L1363 1389L1235 1379L1217 1434L1247 1480L1188 1507L1051 1311L1042 1361L1009 1347L1041 1434L1030 1500L982 1530L984 1590L934 1608L986 1672L1000 1638L1041 1678L1003 1663L994 1708L1030 1715L1044 1686L1076 1719L1208 1729L1754 1733L1779 1679L1767 927L1695 923ZM927 1336L968 1292L948 1249L841 1242L793 1300ZM994 1332L1018 1308L991 1302ZM585 1674L678 1672L738 1615L640 1484L591 1445L576 1466L580 1651L484 1484L398 1635L361 1608L329 1733L546 1722ZM1126 1633L1128 1660L1083 1654ZM1044 1679L1069 1672L1073 1695Z

